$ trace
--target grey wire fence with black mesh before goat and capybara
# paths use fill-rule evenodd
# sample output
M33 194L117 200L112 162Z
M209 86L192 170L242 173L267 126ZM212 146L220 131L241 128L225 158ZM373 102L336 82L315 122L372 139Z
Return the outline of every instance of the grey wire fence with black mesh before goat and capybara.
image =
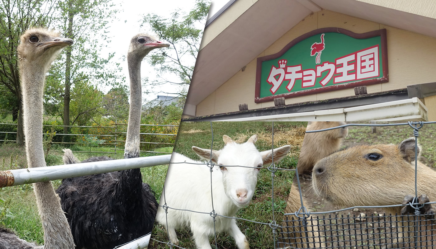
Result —
M411 134L415 137L415 154L417 158L418 151L418 136L419 129L425 124L436 122L408 122L408 123L392 123L392 124L347 124L343 126L337 126L324 130L312 130L306 133L322 132L327 130L339 129L346 126L400 126L408 125L411 127ZM211 158L213 148L213 129L211 123ZM405 138L408 138L406 136ZM272 150L274 150L274 122L272 122ZM274 153L272 153L274 155ZM174 164L194 164L190 162L171 162ZM197 164L197 163L195 163ZM210 210L188 210L178 209L177 207L169 206L165 196L165 188L161 198L164 198L164 205L160 205L164 209L166 214L166 222L168 224L167 214L172 210L187 211L193 213L199 213L204 215L210 215L211 221L214 224L214 241L215 248L217 246L217 232L216 225L218 218L244 220L247 222L254 222L269 227L272 231L271 248L274 249L302 249L302 248L331 248L331 249L384 249L384 248L436 248L436 239L433 238L435 229L433 228L433 222L435 219L430 215L422 215L421 208L435 204L436 202L426 202L419 204L417 196L417 164L418 160L415 160L415 198L408 204L404 205L386 205L386 206L356 206L350 208L344 208L340 210L324 211L324 212L311 212L303 204L303 194L301 192L300 179L298 171L296 169L283 169L276 167L274 158L272 158L272 164L261 170L268 170L271 173L271 220L270 221L254 221L245 218L228 217L221 215L214 208L214 196L212 194L212 169L215 166L212 160L203 163L204 167L208 167L211 172L211 209ZM246 167L239 165L221 165L224 167ZM174 166L173 166L174 167ZM295 210L294 213L285 213L284 219L278 218L275 206L274 198L274 177L277 171L295 171L295 177L298 184L298 192L300 197L300 208ZM401 174L401 172L398 172ZM206 186L205 186L206 187ZM195 201L195 200L192 200ZM288 201L289 203L289 201ZM392 208L392 207L404 207L409 206L411 210L414 210L412 215L398 215L398 214L377 214L371 216L363 215L337 215L336 212L350 210L354 208ZM317 216L315 216L317 215ZM168 225L166 226L166 228ZM160 241L151 238L158 244L164 244L170 249L181 248L182 246L174 244L170 240L169 231L167 228L167 241ZM436 235L435 235L436 237ZM248 248L248 247L247 247Z

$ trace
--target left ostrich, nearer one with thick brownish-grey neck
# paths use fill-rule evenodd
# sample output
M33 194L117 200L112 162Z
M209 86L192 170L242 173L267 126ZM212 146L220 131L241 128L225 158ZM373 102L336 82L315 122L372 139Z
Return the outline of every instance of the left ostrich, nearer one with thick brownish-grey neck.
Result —
M45 74L61 48L72 39L42 28L31 28L20 38L18 66L23 89L24 134L29 168L45 167L42 147L42 94ZM39 214L44 229L44 246L18 238L0 228L0 249L74 249L73 237L50 181L34 184Z

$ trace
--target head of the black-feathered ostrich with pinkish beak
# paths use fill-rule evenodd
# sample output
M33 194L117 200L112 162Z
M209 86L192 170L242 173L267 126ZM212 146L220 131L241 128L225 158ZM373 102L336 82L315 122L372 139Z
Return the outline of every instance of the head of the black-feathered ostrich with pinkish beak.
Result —
M159 41L156 37L150 34L140 33L135 35L130 41L129 55L135 55L136 58L144 58L150 51L155 48L169 47L170 44L165 41Z

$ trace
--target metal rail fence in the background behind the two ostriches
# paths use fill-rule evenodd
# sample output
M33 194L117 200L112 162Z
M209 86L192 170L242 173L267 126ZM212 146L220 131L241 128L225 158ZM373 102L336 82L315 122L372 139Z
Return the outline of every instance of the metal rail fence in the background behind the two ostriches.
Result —
M16 130L17 124L15 123L0 123L0 127L14 127ZM97 146L104 146L104 147L113 147L113 151L84 151L84 150L72 150L72 152L77 153L117 153L118 150L124 150L124 143L126 142L126 129L127 124L126 123L114 123L112 126L63 126L63 125L43 125L43 127L50 127L51 131L49 131L47 128L47 132L44 133L44 135L47 135L49 133L54 133L54 136L58 139L51 139L50 144L66 144L66 145L82 145L82 146L89 146L94 147ZM63 129L63 127L70 127L75 129L80 129L82 132L91 132L91 133L58 133L57 131L59 129ZM171 154L170 152L157 152L153 151L151 149L157 148L157 147L174 147L174 141L177 136L177 125L159 125L159 124L141 124L141 131L148 131L151 129L153 131L154 129L152 127L159 127L159 128L167 128L165 130L158 129L159 131L167 131L170 133L160 133L158 132L141 132L140 133L140 146L143 150L140 150L140 152L146 152L146 153L160 153L160 154ZM58 128L58 129L57 129ZM89 129L92 129L90 131ZM99 133L97 133L99 132ZM95 134L93 134L95 133ZM16 142L16 140L10 140L7 139L10 135L16 136L16 131L0 131L0 142ZM3 135L3 136L2 136ZM74 137L74 139L65 139L65 137ZM97 139L97 138L101 139ZM160 137L167 137L167 139L161 139ZM76 142L71 142L71 140ZM97 142L95 142L97 140ZM153 142L154 140L154 142ZM77 142L79 141L79 142ZM62 152L62 150L53 150L56 152Z

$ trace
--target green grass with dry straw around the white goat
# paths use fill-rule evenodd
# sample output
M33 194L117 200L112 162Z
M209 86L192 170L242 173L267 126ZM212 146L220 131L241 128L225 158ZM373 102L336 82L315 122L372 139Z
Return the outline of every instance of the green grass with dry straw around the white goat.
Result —
M277 165L278 167L296 167L306 124L307 123L305 122L274 123L275 147L286 144L293 145L289 156L280 161ZM271 122L214 122L212 125L214 131L213 148L215 150L219 150L224 146L222 140L224 134L240 143L245 142L253 134L258 134L259 139L256 142L256 147L259 151L271 149ZM295 131L293 135L290 135L289 133L291 130ZM211 126L209 122L181 123L174 151L182 153L187 157L198 159L198 156L191 149L193 145L206 149L211 147ZM260 171L252 203L248 207L239 210L235 215L236 217L258 222L268 223L272 221L271 179L271 172L269 172L266 167ZM281 220L283 218L283 211L286 207L286 198L289 194L292 181L292 171L276 172L274 178L274 211L276 220ZM242 220L238 220L237 223L238 227L246 235L250 243L250 248L274 248L272 229L269 225L261 225ZM164 227L157 223L153 229L152 237L160 241L168 241ZM189 229L178 230L177 237L180 240L180 246L184 248L195 248L195 243ZM210 242L215 245L213 238L211 238ZM236 248L234 240L226 233L220 233L217 235L217 244L218 248ZM166 246L151 241L149 249L154 248L166 248Z

